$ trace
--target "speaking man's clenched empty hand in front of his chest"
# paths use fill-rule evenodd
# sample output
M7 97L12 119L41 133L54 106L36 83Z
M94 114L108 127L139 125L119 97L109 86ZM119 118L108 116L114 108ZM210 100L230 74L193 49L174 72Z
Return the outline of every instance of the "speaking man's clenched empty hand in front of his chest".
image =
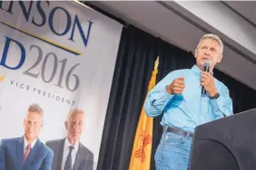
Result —
M166 91L169 94L182 94L182 91L185 88L184 78L177 78L172 81L171 84L166 86Z

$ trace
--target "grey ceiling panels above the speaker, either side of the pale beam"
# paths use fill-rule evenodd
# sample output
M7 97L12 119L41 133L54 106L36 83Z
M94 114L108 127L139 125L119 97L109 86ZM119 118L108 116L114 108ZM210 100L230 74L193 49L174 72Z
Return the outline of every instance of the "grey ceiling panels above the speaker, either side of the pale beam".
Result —
M218 28L202 21L182 5L172 1L94 1L90 3L123 19L128 24L133 24L189 52L194 51L204 33L217 33L225 42L224 57L217 69L256 90L256 77L252 73L256 72L255 53L249 51L243 44L233 41ZM256 6L256 2L219 3L228 6L247 23L256 23L256 10L253 7Z

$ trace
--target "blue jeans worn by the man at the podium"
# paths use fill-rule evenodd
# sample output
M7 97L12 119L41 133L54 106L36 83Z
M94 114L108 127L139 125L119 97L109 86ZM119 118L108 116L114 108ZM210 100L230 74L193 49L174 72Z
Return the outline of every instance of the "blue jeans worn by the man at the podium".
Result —
M166 132L154 156L156 170L188 170L192 137Z

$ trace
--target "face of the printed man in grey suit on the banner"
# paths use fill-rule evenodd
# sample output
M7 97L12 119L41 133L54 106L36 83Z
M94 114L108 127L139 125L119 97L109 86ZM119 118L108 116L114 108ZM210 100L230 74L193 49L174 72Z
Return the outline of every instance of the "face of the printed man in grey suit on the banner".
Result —
M69 121L65 122L67 136L78 140L84 131L84 114L77 113Z

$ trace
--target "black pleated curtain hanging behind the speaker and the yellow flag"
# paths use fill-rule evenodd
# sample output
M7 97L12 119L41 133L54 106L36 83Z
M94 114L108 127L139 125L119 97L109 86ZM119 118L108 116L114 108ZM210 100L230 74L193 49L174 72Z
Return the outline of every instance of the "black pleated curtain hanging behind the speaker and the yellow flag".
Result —
M97 170L129 168L133 138L158 55L160 64L157 81L170 71L188 69L195 63L191 52L184 52L133 26L123 28ZM215 70L214 76L229 88L235 113L256 108L254 90L221 71ZM153 123L152 170L155 169L154 153L162 135L161 119L161 116L154 118Z

